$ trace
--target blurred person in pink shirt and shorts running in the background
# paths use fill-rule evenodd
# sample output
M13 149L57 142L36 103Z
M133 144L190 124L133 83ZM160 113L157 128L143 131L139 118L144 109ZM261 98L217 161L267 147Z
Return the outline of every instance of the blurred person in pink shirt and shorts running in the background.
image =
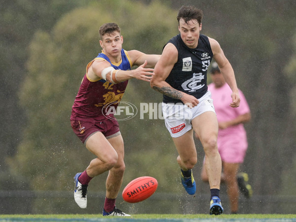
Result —
M252 187L247 184L248 175L246 173L238 174L239 166L244 162L248 148L247 134L243 124L250 121L251 113L241 90L239 90L240 106L237 108L229 106L231 89L225 84L225 79L216 62L212 64L210 73L213 82L208 85L208 90L212 93L219 124L217 144L223 167L221 181L227 185L231 213L236 214L239 189L247 198L252 195ZM201 171L201 179L205 182L208 181L204 165Z

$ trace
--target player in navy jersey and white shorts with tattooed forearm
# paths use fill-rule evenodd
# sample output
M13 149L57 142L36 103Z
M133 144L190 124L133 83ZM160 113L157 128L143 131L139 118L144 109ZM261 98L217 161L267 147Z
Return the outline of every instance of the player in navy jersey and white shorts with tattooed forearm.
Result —
M150 86L163 94L162 112L179 154L177 162L185 190L189 194L196 191L191 170L197 162L195 131L205 151L211 190L210 214L220 215L223 208L219 196L222 162L217 148L218 121L207 87L207 70L212 59L232 90L229 105L238 107L240 98L233 69L220 44L200 34L202 17L202 11L194 6L179 9L180 34L164 46Z

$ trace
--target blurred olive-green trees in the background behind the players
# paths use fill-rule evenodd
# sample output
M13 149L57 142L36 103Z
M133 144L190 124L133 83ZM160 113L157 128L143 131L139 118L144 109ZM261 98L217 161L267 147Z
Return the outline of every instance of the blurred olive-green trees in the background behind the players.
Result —
M242 170L249 173L254 194L296 195L294 0L1 0L1 190L73 192L74 174L94 158L74 135L70 114L85 67L101 51L99 27L115 22L125 50L161 54L179 33L176 16L183 4L203 10L201 33L220 42L249 102L252 121L246 125L249 149ZM147 82L132 79L122 101L139 109L140 103L161 99ZM157 192L180 193L177 152L163 120L145 114L119 124L123 186L147 175L157 178ZM196 142L200 161L193 172L198 192L206 193L208 186L198 180L203 150ZM106 177L95 178L88 195L104 193ZM62 213L66 203L61 196L56 202L36 198L32 213Z

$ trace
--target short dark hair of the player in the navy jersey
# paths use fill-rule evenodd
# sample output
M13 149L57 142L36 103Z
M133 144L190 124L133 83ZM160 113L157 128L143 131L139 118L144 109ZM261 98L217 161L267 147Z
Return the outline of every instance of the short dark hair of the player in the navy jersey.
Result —
M201 9L194 7L193 5L190 6L182 6L177 15L178 24L180 25L180 19L184 19L185 23L188 23L192 19L196 19L198 24L201 24L201 20L203 17L203 12Z

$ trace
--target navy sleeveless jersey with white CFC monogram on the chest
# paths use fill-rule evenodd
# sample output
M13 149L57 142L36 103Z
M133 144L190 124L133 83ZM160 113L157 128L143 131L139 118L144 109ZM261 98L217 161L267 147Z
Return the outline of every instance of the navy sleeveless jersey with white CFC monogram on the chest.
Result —
M183 42L180 34L171 38L178 49L178 61L166 78L174 89L185 92L199 99L207 91L207 70L213 59L213 52L207 36L200 35L196 48L189 48ZM181 100L163 95L164 103L182 103Z

